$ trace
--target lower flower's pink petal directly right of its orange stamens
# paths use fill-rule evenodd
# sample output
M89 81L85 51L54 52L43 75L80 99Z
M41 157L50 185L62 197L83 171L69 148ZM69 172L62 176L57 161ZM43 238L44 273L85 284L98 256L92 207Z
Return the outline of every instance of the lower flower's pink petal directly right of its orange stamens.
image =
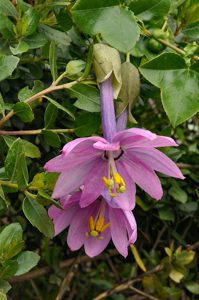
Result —
M123 211L117 208L109 208L109 218L111 222L111 237L118 252L127 257L128 255L128 238L124 222Z

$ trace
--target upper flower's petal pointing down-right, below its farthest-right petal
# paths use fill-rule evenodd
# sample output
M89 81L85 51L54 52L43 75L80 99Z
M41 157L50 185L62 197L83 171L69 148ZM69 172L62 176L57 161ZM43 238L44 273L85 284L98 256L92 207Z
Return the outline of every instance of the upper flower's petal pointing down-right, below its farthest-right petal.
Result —
M140 161L132 161L131 157L125 155L125 167L133 179L152 198L159 200L163 196L163 190L158 176Z

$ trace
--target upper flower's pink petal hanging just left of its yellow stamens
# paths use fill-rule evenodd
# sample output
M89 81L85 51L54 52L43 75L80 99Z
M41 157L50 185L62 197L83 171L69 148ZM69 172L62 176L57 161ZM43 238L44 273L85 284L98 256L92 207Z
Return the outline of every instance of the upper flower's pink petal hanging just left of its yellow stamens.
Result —
M103 176L108 175L108 163L102 159L98 159L92 170L87 174L84 180L84 188L80 199L80 206L86 207L100 196L104 182Z

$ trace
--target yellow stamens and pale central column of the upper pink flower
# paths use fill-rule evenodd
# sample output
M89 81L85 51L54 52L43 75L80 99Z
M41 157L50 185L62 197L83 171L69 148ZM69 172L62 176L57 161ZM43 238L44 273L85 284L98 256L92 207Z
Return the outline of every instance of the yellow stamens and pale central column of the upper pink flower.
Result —
M119 155L121 156L121 154ZM126 184L122 176L118 173L115 159L112 152L108 152L108 178L103 177L102 180L111 197L116 197L118 193L124 193L126 190Z

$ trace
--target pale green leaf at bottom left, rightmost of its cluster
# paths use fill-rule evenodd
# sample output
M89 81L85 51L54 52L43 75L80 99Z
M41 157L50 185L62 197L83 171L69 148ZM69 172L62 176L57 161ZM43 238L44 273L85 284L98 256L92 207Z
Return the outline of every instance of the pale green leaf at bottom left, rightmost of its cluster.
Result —
M40 260L40 256L32 251L24 251L20 253L17 257L18 269L14 274L15 276L27 273L32 268L34 268Z

